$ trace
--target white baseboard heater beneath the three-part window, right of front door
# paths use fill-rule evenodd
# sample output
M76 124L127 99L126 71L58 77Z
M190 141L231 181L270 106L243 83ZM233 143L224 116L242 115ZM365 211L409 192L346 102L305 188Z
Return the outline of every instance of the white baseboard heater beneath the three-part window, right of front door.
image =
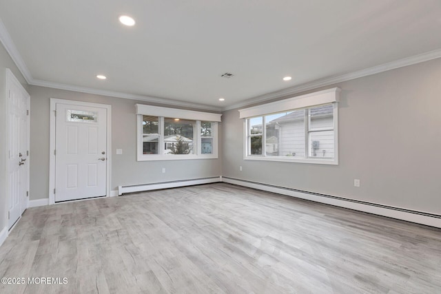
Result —
M123 193L209 184L212 182L222 182L222 176L216 176L210 178L196 178L190 180L173 180L170 182L155 182L152 184L142 184L142 185L119 186L118 195L123 195Z

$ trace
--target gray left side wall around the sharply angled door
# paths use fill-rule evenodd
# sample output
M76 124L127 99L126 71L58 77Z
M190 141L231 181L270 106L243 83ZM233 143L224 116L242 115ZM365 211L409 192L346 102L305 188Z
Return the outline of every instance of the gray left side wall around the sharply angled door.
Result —
M6 160L8 157L8 145L6 144L6 68L9 68L14 76L27 90L28 84L19 72L17 66L0 43L0 231L8 226L8 196L6 193Z

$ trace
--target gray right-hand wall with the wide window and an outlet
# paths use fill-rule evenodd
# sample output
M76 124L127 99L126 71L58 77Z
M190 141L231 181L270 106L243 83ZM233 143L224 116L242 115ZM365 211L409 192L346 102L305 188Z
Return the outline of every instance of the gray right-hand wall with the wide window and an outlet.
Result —
M441 59L317 90L330 87L342 89L338 166L243 160L234 109L223 114L223 176L441 214Z

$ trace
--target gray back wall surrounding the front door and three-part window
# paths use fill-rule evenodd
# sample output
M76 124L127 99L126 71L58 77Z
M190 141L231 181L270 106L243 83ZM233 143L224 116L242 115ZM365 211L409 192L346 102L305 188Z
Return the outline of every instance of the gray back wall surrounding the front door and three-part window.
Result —
M50 98L103 103L112 105L112 190L119 185L138 185L169 180L185 180L222 175L219 159L136 161L135 104L151 104L109 96L99 96L48 87L30 86L30 200L48 198L49 195L49 125ZM219 124L219 142L222 123ZM116 149L123 149L116 155ZM165 167L165 174L161 169Z

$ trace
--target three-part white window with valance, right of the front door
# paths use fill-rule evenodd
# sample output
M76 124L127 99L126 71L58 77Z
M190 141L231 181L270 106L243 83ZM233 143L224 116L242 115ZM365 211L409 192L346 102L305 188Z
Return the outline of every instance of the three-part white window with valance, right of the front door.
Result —
M218 158L221 114L136 105L138 160Z

